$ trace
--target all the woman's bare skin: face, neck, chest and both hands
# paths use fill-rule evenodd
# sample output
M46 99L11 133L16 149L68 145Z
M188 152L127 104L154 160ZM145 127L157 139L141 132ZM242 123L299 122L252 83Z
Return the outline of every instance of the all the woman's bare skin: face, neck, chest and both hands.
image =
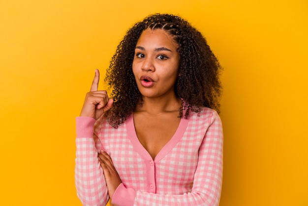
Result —
M180 62L177 48L172 37L161 29L143 31L135 48L132 69L144 102L136 107L133 118L137 137L153 159L172 138L181 120L178 115L182 101L174 92ZM145 86L143 77L153 82ZM112 108L113 100L108 98L106 91L98 90L98 82L99 72L95 70L80 116L98 119ZM106 152L100 151L98 161L112 199L122 181Z

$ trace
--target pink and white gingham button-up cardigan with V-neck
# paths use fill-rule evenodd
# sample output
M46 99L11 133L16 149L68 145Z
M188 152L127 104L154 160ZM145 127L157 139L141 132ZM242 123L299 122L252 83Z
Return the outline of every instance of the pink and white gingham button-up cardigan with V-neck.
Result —
M184 112L183 112L184 113ZM120 206L217 206L222 183L223 134L215 110L182 118L171 140L153 158L139 142L133 115L118 128L105 117L77 117L75 184L84 206L103 206L108 190L97 153L110 154L123 183ZM94 134L94 135L93 135Z

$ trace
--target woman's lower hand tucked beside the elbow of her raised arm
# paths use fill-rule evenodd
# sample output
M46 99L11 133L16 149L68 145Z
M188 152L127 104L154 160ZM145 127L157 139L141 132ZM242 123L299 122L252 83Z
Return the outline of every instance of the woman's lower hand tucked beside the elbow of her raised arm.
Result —
M98 154L98 161L100 162L100 166L103 168L108 195L110 199L112 199L117 187L122 183L122 181L113 165L111 157L106 152L102 150L100 151L100 154Z

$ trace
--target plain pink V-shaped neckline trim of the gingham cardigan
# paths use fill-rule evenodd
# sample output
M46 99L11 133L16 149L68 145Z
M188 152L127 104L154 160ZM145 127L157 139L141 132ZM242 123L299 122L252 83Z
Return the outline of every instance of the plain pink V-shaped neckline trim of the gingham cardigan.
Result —
M154 160L154 162L160 161L164 156L166 156L180 141L181 137L183 136L186 128L188 125L188 120L185 118L181 118L179 126L171 139L162 147L162 149L157 153L155 158L153 159L149 152L143 147L140 143L134 125L134 118L133 114L130 115L126 119L126 130L128 134L128 138L130 139L133 148L137 151L137 153L146 160Z

